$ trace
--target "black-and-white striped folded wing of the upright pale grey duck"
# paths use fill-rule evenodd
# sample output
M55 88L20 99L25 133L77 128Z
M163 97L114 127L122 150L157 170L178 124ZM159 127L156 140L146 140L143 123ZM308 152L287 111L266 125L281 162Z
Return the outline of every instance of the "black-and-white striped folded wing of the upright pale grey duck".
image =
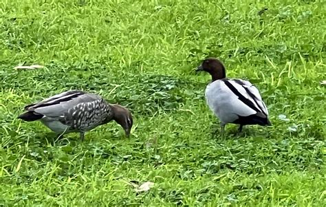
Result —
M267 118L268 109L263 102L259 91L249 81L239 79L223 79L226 86L233 94L238 96L239 100L246 106L257 112L257 116Z

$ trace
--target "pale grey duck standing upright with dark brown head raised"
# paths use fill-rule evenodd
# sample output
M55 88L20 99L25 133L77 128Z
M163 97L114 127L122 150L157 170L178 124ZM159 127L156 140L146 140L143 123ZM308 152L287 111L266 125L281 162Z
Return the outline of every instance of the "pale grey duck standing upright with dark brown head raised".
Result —
M259 91L247 80L226 78L226 69L217 58L207 58L196 72L208 72L212 82L205 90L208 107L221 120L221 134L228 123L244 125L271 125L268 109Z

